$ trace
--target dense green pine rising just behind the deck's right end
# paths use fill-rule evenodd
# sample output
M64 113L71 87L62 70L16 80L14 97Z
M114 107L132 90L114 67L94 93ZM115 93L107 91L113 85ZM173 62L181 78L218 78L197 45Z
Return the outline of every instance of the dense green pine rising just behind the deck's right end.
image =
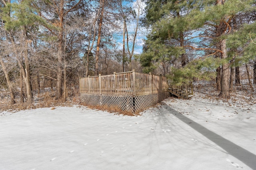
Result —
M188 53L184 47L190 42L183 18L188 14L192 3L186 0L178 2L176 0L148 0L146 4L144 25L150 27L151 31L147 36L144 54L140 61L143 64L144 61L155 60L163 64L166 61L173 63L179 58L181 67L184 67L188 63ZM160 54L155 48L157 43L162 44L163 50L160 50ZM155 53L152 53L153 49ZM146 66L145 63L144 66Z

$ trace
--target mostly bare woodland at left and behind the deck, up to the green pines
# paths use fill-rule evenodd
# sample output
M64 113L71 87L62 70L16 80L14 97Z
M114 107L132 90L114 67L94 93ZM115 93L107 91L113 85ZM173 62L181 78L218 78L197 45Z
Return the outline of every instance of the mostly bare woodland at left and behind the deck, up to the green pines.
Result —
M0 90L9 91L10 104L32 105L33 92L46 87L56 100L66 101L80 76L140 71L132 56L141 5L132 0L1 0Z

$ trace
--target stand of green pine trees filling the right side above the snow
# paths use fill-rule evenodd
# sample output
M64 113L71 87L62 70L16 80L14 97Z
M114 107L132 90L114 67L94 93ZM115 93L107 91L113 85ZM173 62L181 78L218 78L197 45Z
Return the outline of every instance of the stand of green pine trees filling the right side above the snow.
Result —
M230 98L243 65L253 90L248 65L256 84L255 8L255 0L146 0L144 71L161 70L175 82L216 79L219 96Z

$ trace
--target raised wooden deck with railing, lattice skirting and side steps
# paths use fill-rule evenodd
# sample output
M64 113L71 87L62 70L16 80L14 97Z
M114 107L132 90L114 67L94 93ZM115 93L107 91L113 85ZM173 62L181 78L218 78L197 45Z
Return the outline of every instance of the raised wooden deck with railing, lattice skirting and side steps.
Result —
M165 76L121 72L80 78L80 99L88 106L118 107L137 113L170 97L183 99L193 94L192 84L173 85Z

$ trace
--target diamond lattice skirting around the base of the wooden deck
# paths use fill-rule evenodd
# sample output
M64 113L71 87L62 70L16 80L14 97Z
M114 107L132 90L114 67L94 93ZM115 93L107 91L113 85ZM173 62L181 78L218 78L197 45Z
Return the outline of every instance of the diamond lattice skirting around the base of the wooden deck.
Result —
M170 97L169 92L141 96L81 94L81 102L90 106L118 107L122 111L136 113Z

